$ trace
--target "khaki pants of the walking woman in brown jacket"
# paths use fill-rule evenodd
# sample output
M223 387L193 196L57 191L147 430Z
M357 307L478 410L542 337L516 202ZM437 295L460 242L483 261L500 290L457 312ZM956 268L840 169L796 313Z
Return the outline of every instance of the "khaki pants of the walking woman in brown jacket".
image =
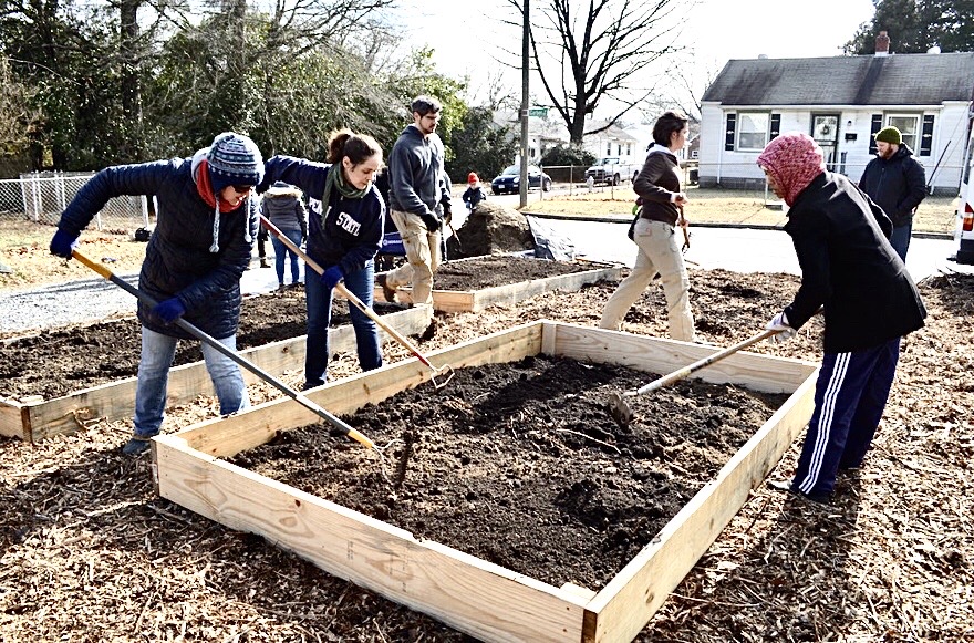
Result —
M633 236L639 246L635 266L605 303L599 328L618 331L625 313L659 272L666 295L670 336L692 342L694 332L693 313L690 310L690 278L683 255L676 246L675 229L663 221L640 219Z

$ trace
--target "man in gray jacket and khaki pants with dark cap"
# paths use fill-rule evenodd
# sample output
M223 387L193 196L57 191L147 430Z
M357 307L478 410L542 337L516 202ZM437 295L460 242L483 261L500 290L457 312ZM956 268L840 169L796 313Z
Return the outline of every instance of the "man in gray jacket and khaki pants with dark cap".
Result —
M379 274L386 301L395 290L412 284L413 303L433 303L433 273L439 267L441 228L450 217L449 185L444 176L443 141L436 134L443 105L417 96L411 105L413 123L400 135L388 156L388 208L402 235L407 263Z

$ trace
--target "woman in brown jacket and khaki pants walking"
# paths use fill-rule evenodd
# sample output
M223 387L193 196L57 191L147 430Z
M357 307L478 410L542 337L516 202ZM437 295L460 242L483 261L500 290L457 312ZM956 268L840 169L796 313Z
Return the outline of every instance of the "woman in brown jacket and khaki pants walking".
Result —
M675 156L686 144L686 123L683 114L666 112L653 126L653 144L632 185L642 199L640 216L630 231L639 255L632 272L605 303L600 328L619 330L625 313L659 272L666 295L670 336L695 341L690 278L676 239L676 226L686 226L683 218L686 194L680 189L680 164Z

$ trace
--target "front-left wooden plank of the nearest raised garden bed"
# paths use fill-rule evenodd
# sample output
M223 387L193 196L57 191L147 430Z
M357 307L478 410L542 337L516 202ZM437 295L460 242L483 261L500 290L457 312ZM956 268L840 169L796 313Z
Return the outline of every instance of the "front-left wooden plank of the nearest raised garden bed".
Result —
M159 495L485 641L580 641L584 599L156 438Z

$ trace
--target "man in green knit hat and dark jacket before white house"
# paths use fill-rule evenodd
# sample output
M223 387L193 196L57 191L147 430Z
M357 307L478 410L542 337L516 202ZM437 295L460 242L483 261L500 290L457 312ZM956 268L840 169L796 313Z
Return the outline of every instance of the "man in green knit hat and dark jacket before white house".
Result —
M890 243L905 261L913 214L926 196L926 174L895 127L883 127L875 133L875 158L866 166L859 188L893 221Z

